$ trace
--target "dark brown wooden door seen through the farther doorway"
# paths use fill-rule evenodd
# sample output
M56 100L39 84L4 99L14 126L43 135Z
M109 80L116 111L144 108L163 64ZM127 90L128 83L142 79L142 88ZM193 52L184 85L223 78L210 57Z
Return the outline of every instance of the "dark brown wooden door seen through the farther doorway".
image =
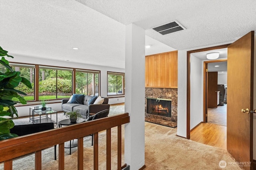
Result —
M208 108L218 107L217 90L218 90L218 72L208 72L208 89L207 105Z

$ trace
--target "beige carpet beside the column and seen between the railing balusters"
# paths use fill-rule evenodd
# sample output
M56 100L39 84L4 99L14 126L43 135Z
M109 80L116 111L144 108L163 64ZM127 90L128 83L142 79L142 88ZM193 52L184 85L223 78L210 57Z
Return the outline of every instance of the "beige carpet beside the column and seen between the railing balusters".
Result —
M124 107L124 106L121 106ZM145 122L145 170L240 170L239 166L228 165L235 160L227 150L211 147L176 136L176 129ZM112 169L117 162L117 128L112 128ZM122 126L122 144L124 144L124 125ZM58 147L57 147L58 149ZM58 150L57 150L58 153ZM219 162L226 161L227 166L220 168ZM122 164L124 164L124 145L122 146ZM77 168L77 147L65 149L65 170ZM0 164L0 169L3 165ZM13 161L14 170L33 170L34 154ZM58 169L58 156L54 160L54 148L42 151L42 169ZM93 169L93 146L91 137L84 138L84 170ZM106 169L106 131L99 133L99 169Z

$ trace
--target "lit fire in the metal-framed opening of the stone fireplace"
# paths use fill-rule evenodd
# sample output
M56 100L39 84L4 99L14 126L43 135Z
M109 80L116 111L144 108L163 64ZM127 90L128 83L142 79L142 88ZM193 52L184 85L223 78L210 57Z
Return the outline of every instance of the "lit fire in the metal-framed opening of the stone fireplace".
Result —
M147 98L147 113L171 117L171 112L171 99Z

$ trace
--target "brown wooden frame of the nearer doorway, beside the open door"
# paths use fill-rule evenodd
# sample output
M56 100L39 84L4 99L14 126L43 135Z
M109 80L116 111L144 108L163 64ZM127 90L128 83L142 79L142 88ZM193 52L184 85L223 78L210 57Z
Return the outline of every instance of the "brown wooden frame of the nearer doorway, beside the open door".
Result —
M207 47L207 48L187 51L187 136L186 136L187 139L190 139L190 54L196 53L196 52L214 50L214 49L223 49L223 48L227 48L228 45L230 44L218 45L214 47ZM205 101L205 95L204 95L204 101ZM205 105L205 102L204 102L204 105ZM204 119L205 119L205 116L204 116Z

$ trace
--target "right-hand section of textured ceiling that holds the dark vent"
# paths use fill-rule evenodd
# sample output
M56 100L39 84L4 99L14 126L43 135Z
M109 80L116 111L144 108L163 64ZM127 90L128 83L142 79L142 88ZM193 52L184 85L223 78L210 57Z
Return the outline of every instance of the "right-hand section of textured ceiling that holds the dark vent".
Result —
M177 50L235 41L256 30L255 0L77 1L124 25L135 23L146 35ZM172 20L186 30L161 35L150 29Z

